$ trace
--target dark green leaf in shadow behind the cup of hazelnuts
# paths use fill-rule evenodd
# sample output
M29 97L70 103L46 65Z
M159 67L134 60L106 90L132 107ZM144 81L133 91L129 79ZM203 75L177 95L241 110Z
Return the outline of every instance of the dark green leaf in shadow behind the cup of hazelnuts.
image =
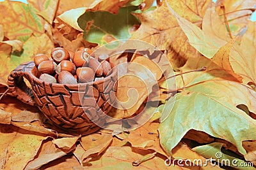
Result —
M131 12L137 10L138 6L120 8L115 15L108 11L86 11L78 18L79 27L84 33L84 39L100 45L110 39L127 39L131 37L131 27L140 24Z

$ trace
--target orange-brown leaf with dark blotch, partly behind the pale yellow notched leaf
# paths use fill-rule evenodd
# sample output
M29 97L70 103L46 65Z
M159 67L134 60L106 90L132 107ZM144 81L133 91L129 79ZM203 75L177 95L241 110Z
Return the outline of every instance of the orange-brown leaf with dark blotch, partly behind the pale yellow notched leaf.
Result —
M168 1L181 17L185 17L197 25L202 23L207 4L211 1ZM189 57L198 56L195 48L189 45L186 35L182 32L177 20L166 3L147 13L136 13L141 26L131 38L141 39L156 46L160 50L168 50L167 57L174 68L183 66ZM166 22L168 20L168 22ZM164 23L164 24L163 24Z

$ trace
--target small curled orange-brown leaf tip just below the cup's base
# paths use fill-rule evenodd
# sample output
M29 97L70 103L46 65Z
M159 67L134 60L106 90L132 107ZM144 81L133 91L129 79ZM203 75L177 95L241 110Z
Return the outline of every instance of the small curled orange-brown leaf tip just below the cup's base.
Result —
M70 150L70 148L73 148L75 146L76 141L80 138L80 136L73 137L73 138L59 138L59 139L53 139L52 143L54 143L58 148L63 150Z

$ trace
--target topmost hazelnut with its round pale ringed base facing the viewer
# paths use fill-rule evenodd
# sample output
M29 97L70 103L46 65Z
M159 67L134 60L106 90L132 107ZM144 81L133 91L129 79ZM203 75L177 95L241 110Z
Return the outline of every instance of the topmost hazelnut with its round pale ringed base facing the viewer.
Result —
M59 64L62 60L69 60L70 55L65 48L56 47L52 49L51 52L52 60Z

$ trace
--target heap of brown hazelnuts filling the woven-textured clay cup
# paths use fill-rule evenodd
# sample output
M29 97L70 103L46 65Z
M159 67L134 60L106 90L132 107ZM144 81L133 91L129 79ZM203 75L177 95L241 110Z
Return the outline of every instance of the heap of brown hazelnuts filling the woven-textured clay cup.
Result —
M90 48L78 48L76 52L56 47L51 51L51 59L45 54L34 57L39 79L49 83L77 84L100 80L111 73L108 60L92 57Z

